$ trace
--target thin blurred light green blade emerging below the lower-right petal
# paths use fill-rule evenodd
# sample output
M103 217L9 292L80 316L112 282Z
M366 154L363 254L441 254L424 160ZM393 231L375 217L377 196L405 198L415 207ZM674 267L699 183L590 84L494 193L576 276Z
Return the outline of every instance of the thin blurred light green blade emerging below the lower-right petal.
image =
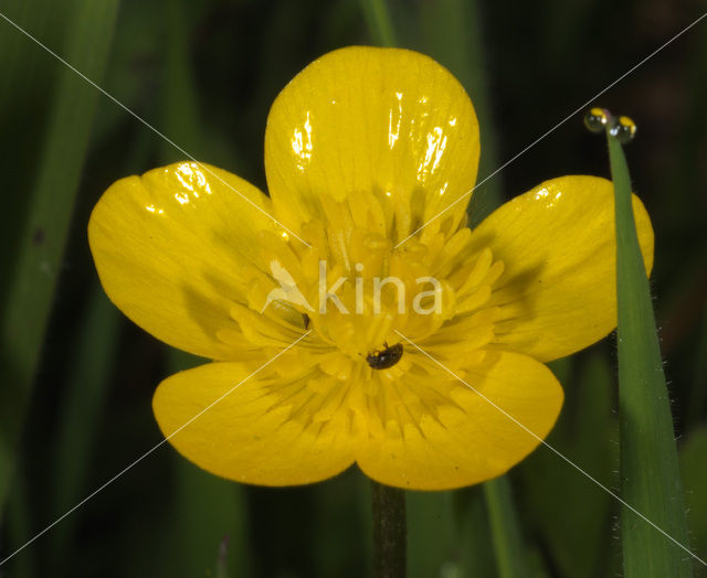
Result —
M500 578L524 578L525 550L520 539L520 528L513 505L510 483L504 475L484 484L486 506L494 536L494 550Z

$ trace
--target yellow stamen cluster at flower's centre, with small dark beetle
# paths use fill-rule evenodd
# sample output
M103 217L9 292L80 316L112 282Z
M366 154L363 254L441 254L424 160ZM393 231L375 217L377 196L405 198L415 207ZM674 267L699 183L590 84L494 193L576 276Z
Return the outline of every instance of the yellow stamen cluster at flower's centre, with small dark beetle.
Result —
M489 301L503 263L490 249L472 246L468 228L443 225L394 247L393 225L376 214L331 202L297 232L309 247L262 233L258 266L246 271L250 307L232 312L242 335L220 334L242 355L249 346L254 354L282 351L310 332L273 363L272 382L278 403L307 399L291 414L307 422L341 407L351 420L367 416L369 431L379 432L391 420L402 431L422 415L434 417L463 394L433 360L463 372L494 338L497 309ZM307 396L286 394L303 382Z

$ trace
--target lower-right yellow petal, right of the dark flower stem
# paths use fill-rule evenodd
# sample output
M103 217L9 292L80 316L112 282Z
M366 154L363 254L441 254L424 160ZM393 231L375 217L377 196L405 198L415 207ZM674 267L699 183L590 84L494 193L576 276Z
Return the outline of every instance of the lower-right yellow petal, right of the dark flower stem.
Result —
M435 379L453 379L437 370ZM401 431L389 424L383 435L371 437L357 457L366 474L412 490L447 490L489 480L540 443L538 438L548 435L562 406L562 388L552 373L517 353L487 352L463 379L476 392L455 381L449 404L416 426Z

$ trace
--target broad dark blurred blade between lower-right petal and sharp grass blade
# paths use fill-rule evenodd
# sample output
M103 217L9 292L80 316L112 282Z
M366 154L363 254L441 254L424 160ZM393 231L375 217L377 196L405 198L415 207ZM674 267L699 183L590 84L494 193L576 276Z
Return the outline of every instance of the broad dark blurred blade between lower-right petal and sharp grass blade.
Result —
M619 481L614 477L619 448L612 441L619 437L612 365L599 352L549 364L568 387L562 411L547 442L606 488L615 488ZM519 464L515 488L519 510L528 523L526 535L544 545L544 555L559 576L612 576L611 565L619 556L611 555L615 540L608 528L615 502L567 465L542 448ZM531 567L530 561L528 566Z

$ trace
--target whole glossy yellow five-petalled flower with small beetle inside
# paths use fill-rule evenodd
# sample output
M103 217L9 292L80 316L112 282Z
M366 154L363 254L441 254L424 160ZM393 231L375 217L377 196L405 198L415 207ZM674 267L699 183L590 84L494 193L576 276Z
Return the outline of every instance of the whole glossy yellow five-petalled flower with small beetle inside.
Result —
M88 225L108 296L214 360L155 394L177 450L247 483L358 463L424 490L497 477L532 451L538 439L498 408L545 438L562 389L544 362L615 327L613 190L547 181L471 231L468 195L453 203L478 154L472 103L446 69L349 47L275 100L270 196L194 162L113 184ZM634 212L650 270L635 197Z

